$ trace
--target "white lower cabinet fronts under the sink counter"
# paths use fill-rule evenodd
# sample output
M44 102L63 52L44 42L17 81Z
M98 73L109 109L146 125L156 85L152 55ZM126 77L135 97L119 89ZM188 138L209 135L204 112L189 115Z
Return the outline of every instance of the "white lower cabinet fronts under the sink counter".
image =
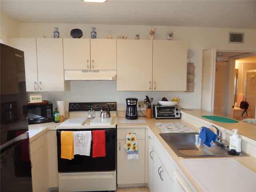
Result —
M148 129L148 187L150 192L196 191L150 129Z

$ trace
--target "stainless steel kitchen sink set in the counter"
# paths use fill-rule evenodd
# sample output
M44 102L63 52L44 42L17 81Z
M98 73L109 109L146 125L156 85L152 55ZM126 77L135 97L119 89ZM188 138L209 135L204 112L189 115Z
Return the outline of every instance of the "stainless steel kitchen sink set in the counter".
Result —
M239 155L230 155L228 154L229 149L224 149L216 143L214 146L208 147L199 138L198 133L160 133L160 136L182 158L248 156L243 152Z

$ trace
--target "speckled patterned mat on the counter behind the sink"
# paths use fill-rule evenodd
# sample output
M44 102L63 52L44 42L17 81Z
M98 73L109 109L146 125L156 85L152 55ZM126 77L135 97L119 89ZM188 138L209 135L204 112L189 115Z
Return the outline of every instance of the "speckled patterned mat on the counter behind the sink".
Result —
M196 133L183 123L156 123L164 133Z

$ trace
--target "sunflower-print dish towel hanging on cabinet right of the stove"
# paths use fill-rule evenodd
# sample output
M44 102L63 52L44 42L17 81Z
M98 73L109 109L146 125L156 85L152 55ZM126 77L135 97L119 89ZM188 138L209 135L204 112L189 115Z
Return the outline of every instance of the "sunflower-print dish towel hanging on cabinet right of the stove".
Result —
M139 159L138 154L138 144L136 140L136 134L128 132L126 134L126 143L124 149L127 152L127 158L130 159Z

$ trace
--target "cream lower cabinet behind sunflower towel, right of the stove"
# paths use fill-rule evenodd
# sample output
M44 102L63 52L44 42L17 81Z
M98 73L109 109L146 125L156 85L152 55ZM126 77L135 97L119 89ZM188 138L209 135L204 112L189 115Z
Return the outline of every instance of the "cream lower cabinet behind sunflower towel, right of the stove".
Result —
M127 132L136 134L139 159L128 160L124 149ZM117 128L118 187L145 185L145 128Z

